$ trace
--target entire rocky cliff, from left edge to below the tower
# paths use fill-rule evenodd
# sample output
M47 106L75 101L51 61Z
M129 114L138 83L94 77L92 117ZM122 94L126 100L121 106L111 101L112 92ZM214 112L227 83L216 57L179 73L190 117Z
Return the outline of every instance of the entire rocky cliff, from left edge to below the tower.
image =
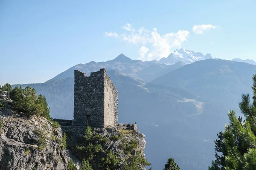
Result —
M4 100L0 104L0 170L67 170L70 157L76 167L68 170L84 161L91 170L149 165L145 135L138 130L58 127L44 117L17 113Z

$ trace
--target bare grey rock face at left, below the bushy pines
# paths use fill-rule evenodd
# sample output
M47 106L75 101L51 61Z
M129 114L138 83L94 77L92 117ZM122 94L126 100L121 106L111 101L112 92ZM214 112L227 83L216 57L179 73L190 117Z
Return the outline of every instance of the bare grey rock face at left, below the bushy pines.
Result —
M66 170L65 150L59 148L61 128L41 116L20 116L8 105L0 109L0 170ZM41 133L41 137L38 135ZM45 145L39 149L40 141Z

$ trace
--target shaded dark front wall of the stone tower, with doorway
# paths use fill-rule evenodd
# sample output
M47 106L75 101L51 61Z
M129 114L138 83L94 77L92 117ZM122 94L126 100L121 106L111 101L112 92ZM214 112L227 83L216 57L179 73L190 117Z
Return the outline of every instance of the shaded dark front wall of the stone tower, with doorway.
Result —
M104 127L104 70L93 72L90 77L75 70L74 120L87 121L91 126Z

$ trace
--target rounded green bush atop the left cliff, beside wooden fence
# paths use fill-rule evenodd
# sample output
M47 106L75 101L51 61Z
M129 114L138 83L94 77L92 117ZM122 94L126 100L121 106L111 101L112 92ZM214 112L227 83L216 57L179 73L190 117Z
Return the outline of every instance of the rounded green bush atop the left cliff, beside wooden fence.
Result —
M43 116L48 120L51 119L45 96L41 94L38 96L34 88L26 86L23 89L21 86L16 86L12 89L10 95L12 96L13 106L17 111Z

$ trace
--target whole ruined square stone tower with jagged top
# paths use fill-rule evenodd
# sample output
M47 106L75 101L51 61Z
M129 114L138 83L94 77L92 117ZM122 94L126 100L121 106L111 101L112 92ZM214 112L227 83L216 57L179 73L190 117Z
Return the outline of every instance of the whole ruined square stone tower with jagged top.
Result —
M105 68L89 77L75 70L74 121L92 127L117 126L118 92Z

